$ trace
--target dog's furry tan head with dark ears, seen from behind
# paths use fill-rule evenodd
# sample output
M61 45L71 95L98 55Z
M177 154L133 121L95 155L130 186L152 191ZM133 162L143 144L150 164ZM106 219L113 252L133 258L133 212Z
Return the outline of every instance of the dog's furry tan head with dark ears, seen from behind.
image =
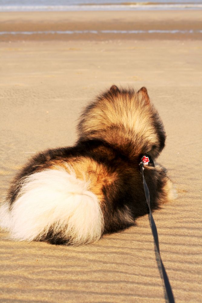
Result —
M152 158L164 148L166 134L147 89L111 88L85 109L78 125L80 138L99 138L130 155Z

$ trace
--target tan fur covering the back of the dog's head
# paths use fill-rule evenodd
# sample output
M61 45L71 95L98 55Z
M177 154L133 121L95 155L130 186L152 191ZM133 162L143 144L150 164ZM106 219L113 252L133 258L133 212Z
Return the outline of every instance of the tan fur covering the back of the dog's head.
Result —
M152 146L159 143L152 118L152 116L158 117L158 115L149 101L146 88L124 94L118 91L113 94L112 98L102 97L94 103L89 111L84 112L79 124L81 136L101 138L123 149L132 141L136 143L136 154L141 153L137 142L143 141L147 144L144 152L151 151ZM158 123L162 125L163 129L159 117Z

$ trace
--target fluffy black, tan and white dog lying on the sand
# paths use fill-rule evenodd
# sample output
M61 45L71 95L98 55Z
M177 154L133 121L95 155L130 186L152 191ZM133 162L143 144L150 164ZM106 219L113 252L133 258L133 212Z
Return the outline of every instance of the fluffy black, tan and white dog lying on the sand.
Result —
M73 147L48 149L18 173L0 208L12 239L81 245L147 214L139 163L155 160L166 133L147 89L111 88L82 113ZM175 198L159 165L145 165L151 210Z

